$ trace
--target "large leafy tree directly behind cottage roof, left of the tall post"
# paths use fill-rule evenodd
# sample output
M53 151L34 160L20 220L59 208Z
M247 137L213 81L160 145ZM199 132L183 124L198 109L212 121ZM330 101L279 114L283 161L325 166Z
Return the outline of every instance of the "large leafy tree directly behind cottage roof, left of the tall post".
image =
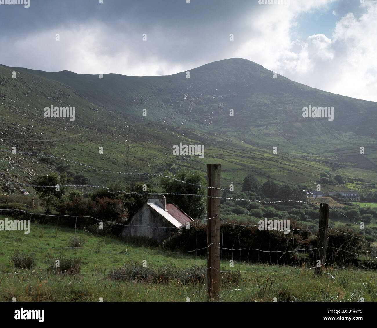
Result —
M173 177L169 172L164 175ZM181 169L175 177L184 182L193 183L193 186L187 183L179 182L170 178L162 177L159 186L163 192L175 194L195 194L205 195L206 188L200 187L205 185L204 176L201 172L193 172L187 169ZM187 213L193 219L202 219L206 212L206 198L201 196L185 195L166 195L167 203L176 204L182 211Z

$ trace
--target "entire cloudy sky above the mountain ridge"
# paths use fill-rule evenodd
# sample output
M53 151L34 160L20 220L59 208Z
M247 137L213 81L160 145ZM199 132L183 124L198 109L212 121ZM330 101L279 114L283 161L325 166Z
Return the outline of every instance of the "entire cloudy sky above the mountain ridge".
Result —
M377 0L8 1L0 0L6 66L151 76L240 57L377 101Z

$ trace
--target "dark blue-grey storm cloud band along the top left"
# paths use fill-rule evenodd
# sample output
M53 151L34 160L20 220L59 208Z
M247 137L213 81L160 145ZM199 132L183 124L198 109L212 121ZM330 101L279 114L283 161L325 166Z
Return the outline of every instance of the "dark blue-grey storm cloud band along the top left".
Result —
M0 6L0 25L10 35L50 29L61 23L101 21L116 26L120 21L132 22L138 27L151 28L162 24L166 28L208 26L233 23L239 14L251 8L256 1L239 0L30 0L30 7Z

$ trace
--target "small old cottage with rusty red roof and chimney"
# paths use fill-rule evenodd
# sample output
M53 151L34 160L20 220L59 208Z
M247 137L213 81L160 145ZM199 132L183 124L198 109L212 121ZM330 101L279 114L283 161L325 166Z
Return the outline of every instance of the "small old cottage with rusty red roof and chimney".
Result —
M187 222L194 220L175 204L166 204L164 195L155 194L127 221L122 237L146 237L162 243Z

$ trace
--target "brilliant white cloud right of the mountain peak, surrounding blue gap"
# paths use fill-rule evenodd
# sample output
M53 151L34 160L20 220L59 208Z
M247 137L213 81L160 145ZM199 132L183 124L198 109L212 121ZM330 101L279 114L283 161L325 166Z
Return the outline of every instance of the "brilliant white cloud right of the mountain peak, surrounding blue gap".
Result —
M302 4L302 6L301 6ZM360 4L359 18L348 13L333 35L314 34L291 41L299 14L327 8L325 1L291 1L289 10L268 6L253 21L253 34L238 56L255 61L293 81L353 98L377 101L377 2ZM266 6L267 7L267 6Z

